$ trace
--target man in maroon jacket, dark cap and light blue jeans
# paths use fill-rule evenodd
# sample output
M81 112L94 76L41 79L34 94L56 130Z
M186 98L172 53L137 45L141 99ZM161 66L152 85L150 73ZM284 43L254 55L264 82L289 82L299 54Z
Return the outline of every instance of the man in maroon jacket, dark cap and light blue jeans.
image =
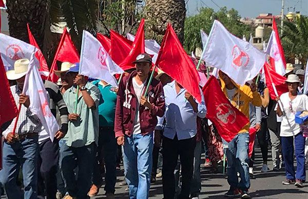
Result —
M137 56L136 71L123 77L119 85L115 109L114 132L119 145L123 146L125 180L129 197L148 198L152 169L153 130L157 116L165 112L162 84L152 79L148 93L152 64L150 55Z

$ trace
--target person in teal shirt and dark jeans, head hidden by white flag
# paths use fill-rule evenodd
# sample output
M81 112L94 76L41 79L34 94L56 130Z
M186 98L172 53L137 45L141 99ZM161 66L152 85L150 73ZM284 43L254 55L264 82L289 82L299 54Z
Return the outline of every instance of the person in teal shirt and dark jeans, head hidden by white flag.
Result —
M117 140L113 131L115 105L117 104L117 93L113 91L110 84L105 81L92 82L101 91L99 104L99 145L97 160L94 163L93 170L93 185L89 191L89 196L92 197L99 193L99 188L103 184L101 165L102 158L105 160L106 175L105 175L105 191L107 197L114 197L115 181L117 180L116 162L117 162ZM102 154L103 151L103 154Z

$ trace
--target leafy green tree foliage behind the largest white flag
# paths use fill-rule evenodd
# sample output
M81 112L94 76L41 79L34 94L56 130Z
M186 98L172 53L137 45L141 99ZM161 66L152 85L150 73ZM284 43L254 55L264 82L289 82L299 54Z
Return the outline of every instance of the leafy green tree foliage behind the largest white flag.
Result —
M202 47L200 29L209 34L214 19L218 19L234 35L240 38L246 35L248 38L250 33L253 33L253 27L241 23L240 18L238 11L233 8L227 10L223 7L218 12L211 8L201 8L199 14L185 19L184 49L191 52L197 47Z

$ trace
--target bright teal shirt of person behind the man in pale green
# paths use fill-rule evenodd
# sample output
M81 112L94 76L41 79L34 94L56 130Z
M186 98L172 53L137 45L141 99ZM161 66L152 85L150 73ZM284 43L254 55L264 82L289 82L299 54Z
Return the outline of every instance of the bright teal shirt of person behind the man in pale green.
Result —
M97 86L101 91L99 104L100 127L113 127L117 94L110 90L112 87L111 85L103 86L99 83L99 80L92 82L92 84Z

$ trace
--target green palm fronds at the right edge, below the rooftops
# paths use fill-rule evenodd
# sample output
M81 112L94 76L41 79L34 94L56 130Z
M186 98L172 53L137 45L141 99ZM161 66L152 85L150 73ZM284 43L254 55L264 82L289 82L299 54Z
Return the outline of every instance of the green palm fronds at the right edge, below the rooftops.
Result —
M305 64L308 58L308 17L300 16L295 22L286 21L281 40L286 59L297 58Z

